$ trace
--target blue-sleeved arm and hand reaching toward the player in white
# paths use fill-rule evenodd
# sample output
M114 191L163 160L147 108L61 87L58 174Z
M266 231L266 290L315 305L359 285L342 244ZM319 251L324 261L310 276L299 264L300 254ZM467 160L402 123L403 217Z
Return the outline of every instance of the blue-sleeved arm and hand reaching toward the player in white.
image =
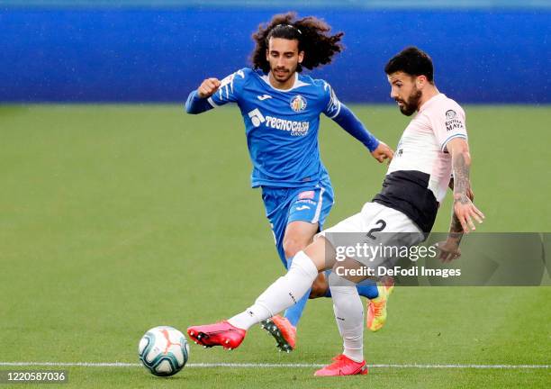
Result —
M364 124L345 104L340 103L339 113L332 119L344 131L361 141L377 161L383 162L384 159L391 160L393 158L393 149L389 148L384 142L377 140L371 132L367 131Z

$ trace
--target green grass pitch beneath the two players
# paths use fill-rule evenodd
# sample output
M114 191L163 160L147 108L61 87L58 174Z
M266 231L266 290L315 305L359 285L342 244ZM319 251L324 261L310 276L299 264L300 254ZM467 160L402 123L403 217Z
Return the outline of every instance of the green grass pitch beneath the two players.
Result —
M391 146L409 122L395 106L353 108ZM551 108L478 105L465 112L476 204L486 215L478 231L551 231ZM283 273L260 194L249 188L236 108L192 116L177 105L3 106L0 123L0 363L137 363L145 330L220 320ZM385 167L327 119L321 155L336 192L330 226L371 199ZM435 231L447 230L449 214L448 196ZM385 328L366 332L366 359L551 365L550 302L549 287L399 287ZM320 299L308 304L292 354L277 353L274 341L253 329L231 352L192 345L190 363L323 364L340 343L330 300ZM372 367L344 379L317 379L313 367L188 366L171 378L140 366L68 371L69 384L47 387L551 382L549 368Z

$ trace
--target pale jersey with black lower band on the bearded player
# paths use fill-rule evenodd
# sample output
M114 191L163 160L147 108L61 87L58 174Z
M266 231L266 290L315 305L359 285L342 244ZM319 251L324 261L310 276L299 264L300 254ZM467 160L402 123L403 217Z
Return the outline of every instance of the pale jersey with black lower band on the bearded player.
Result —
M374 202L405 213L429 232L452 173L447 142L456 138L467 138L465 112L446 95L435 95L403 131Z

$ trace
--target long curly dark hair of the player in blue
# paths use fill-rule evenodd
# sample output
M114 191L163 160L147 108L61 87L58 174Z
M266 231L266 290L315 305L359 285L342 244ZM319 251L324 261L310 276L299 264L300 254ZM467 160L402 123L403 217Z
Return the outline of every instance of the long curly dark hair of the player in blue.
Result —
M285 38L299 41L299 51L304 51L303 63L296 71L304 68L317 68L331 62L333 56L344 50L340 43L344 32L329 35L331 26L313 16L296 20L295 13L276 14L272 20L258 26L258 31L252 35L256 42L255 50L251 55L253 68L261 68L269 72L270 64L266 60L266 50L270 38ZM302 65L302 66L301 66Z

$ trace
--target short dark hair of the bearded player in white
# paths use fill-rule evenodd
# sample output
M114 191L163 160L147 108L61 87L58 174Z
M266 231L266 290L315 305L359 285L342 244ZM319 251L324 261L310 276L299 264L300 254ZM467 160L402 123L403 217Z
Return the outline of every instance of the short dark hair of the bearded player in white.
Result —
M414 46L405 48L388 61L384 73L391 75L402 71L411 76L425 76L434 83L434 68L432 59L425 51Z

